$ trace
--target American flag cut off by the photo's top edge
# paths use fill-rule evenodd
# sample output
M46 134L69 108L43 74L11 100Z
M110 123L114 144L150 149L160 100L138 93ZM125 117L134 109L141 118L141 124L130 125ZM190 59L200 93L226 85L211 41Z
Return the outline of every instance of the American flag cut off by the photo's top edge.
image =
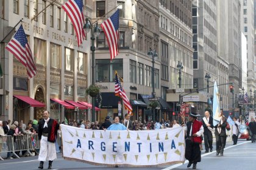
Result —
M74 25L78 46L82 44L85 39L85 17L84 4L82 0L68 0L62 5L63 10L68 15L70 21Z

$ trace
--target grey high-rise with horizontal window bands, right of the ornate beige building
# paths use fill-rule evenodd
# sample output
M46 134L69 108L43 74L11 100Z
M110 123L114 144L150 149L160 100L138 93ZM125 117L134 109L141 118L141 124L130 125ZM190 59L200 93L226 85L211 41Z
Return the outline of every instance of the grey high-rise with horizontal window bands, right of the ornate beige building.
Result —
M217 22L216 22L216 1L215 0L197 0L192 5L192 29L193 29L193 69L194 87L204 89L207 87L205 75L210 74L209 86L213 86L213 81L218 80L218 58L217 58ZM213 88L201 91L207 96L206 101L200 101L200 114L204 109L210 106L213 98Z

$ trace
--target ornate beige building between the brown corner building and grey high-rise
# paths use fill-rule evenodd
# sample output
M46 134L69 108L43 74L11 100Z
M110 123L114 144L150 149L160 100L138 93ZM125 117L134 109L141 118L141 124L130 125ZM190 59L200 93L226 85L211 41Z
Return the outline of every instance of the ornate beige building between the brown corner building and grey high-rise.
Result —
M191 1L160 1L161 95L176 112L179 95L166 94L166 89L193 89L193 48ZM169 91L169 90L168 90Z

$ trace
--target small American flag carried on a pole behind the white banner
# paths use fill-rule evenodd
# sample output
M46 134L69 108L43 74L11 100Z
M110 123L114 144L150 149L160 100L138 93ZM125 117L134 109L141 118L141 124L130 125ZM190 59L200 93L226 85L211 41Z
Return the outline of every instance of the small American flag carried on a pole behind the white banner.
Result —
M126 110L128 110L128 114L132 114L132 106L130 105L130 101L126 95L126 92L124 92L124 89L121 85L121 82L118 78L117 73L116 73L116 82L115 82L115 95L119 96L123 99L124 108L126 108Z

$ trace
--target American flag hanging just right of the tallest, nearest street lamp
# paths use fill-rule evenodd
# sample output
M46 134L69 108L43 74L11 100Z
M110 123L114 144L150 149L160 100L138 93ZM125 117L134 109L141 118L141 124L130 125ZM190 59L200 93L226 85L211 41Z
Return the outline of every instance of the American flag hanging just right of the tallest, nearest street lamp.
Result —
M102 30L107 38L107 43L110 52L110 60L113 60L118 55L119 41L119 9L101 24Z

